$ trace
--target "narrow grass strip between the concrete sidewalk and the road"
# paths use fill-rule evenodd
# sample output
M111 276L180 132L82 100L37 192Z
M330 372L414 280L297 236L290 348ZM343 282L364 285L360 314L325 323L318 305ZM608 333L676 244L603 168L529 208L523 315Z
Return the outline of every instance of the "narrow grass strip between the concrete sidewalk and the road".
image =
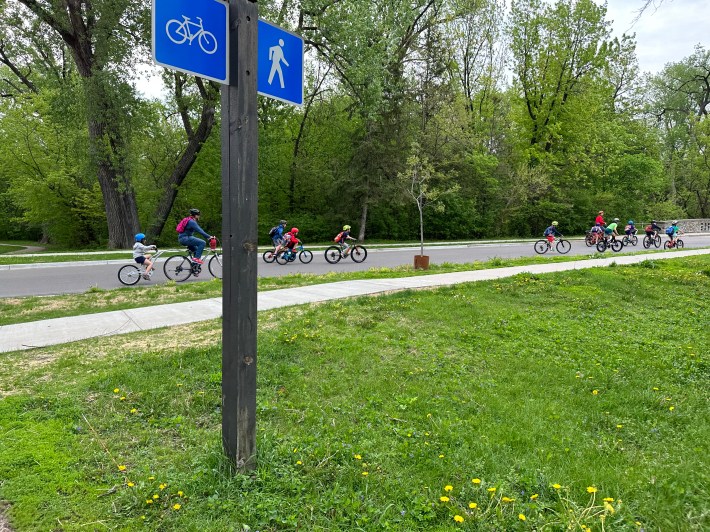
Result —
M262 277L258 280L260 291L291 288L320 283L357 279L383 279L432 275L459 271L481 270L486 268L505 268L529 264L549 264L585 260L590 257L608 257L600 253L584 256L524 257L519 259L493 258L485 262L467 264L442 263L432 264L428 271L415 271L412 266L397 268L371 268L362 272L336 273L323 275L293 274L284 277ZM195 301L222 296L222 283L212 279L207 282L179 284L139 284L135 287L103 290L89 289L83 294L61 296L34 296L0 298L0 325L24 323L28 321L78 316L93 312L108 312L150 305Z

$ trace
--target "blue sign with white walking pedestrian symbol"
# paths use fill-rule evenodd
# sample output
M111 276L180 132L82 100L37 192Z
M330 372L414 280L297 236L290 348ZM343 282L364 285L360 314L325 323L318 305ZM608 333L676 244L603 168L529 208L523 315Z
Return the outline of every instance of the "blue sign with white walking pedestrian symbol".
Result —
M259 20L256 90L303 105L303 39L264 20Z

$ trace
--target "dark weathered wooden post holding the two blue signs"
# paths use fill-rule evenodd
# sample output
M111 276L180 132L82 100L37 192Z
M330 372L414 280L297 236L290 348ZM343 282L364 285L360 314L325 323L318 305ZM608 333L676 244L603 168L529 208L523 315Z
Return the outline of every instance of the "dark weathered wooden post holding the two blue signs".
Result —
M222 445L256 467L257 153L255 1L229 0L230 85L222 87Z

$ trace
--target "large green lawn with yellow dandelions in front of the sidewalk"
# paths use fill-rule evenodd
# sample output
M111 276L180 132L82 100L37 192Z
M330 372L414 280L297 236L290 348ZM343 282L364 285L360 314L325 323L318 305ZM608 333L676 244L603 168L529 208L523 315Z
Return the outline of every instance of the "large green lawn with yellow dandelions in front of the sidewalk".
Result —
M707 530L708 315L708 257L260 313L249 474L219 321L0 355L0 500L18 530Z

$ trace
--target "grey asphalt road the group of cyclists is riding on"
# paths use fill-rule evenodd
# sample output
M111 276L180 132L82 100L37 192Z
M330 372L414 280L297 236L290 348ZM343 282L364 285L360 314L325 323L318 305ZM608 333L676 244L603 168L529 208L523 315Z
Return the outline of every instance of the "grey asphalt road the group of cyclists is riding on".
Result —
M710 246L710 235L684 235L683 240L685 241L685 247L688 249ZM595 251L594 248L588 248L581 240L572 240L571 242L572 250L569 253L570 255L589 255ZM644 251L640 242L636 247L629 246L624 248L624 251L620 254L633 251ZM128 255L128 253L126 254ZM418 247L369 248L367 260L362 264L356 264L348 258L334 265L325 261L322 250L313 252L313 262L310 264L301 264L298 261L286 265L266 264L261 260L260 256L258 259L259 276L279 277L290 273L323 274L331 271L353 272L368 270L369 268L391 268L403 264L412 264L414 255L418 253ZM432 264L485 261L494 257L517 258L535 256L532 241L437 246L425 248L425 253L430 256ZM614 253L607 251L605 254L611 256ZM548 252L548 256L554 255L557 255L557 253ZM109 264L84 264L78 266L74 264L45 264L41 267L39 265L34 265L31 268L14 266L10 269L3 269L3 266L0 266L0 297L82 293L91 287L103 289L119 288L123 285L118 281L118 269L121 265L130 263L130 259L127 259L125 261L110 261ZM162 264L158 264L158 270L151 281L141 280L136 286L165 282ZM199 279L191 278L186 282L199 282L211 278L212 276L205 267Z

